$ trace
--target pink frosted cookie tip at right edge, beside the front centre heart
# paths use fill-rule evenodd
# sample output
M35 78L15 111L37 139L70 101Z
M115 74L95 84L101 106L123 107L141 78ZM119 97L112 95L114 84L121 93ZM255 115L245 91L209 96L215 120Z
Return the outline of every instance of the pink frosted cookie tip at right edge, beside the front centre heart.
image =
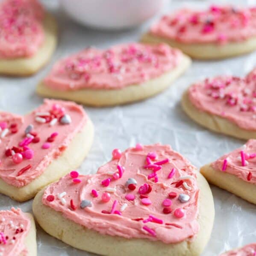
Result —
M205 165L200 172L212 184L256 204L256 140L215 162Z

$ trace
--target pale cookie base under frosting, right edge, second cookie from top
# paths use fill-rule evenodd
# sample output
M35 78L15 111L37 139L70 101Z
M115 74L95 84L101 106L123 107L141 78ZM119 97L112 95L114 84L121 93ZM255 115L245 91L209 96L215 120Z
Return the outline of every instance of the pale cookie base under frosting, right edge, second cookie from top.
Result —
M188 91L182 97L182 108L186 114L196 123L214 132L230 135L235 138L250 139L256 138L256 131L245 130L238 127L235 123L228 121L218 115L212 115L197 109L188 98Z

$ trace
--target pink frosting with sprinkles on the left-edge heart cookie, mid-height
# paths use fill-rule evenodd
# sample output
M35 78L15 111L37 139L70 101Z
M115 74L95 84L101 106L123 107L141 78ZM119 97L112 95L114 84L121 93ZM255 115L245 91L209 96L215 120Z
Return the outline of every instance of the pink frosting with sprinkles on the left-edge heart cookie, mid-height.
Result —
M71 123L63 124L63 116ZM61 100L44 100L43 105L24 117L0 112L0 178L18 188L29 184L62 154L86 122L81 106ZM26 135L29 125L33 128ZM14 162L14 153L23 156L22 162Z

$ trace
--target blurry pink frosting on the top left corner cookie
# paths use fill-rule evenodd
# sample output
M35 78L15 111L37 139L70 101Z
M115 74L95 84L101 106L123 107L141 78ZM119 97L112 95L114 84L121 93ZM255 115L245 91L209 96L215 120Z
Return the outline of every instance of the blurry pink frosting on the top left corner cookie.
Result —
M43 18L37 0L0 3L0 59L33 56L44 41Z

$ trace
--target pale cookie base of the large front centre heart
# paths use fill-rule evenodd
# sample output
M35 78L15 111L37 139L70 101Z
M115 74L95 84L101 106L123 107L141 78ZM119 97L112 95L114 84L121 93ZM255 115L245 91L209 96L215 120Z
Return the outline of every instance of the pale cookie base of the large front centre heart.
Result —
M33 213L38 224L48 234L80 250L111 256L199 256L210 238L215 209L209 185L199 172L197 181L200 187L200 231L193 241L165 244L148 239L101 235L63 217L61 212L45 206L41 200L44 189L35 196Z

